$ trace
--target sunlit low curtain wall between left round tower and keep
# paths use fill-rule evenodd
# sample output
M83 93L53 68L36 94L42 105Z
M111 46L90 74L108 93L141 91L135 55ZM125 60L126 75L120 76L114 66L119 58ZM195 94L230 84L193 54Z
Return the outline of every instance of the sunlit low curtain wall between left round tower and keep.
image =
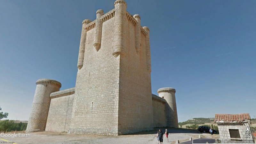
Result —
M51 93L45 131L68 132L72 116L75 88Z

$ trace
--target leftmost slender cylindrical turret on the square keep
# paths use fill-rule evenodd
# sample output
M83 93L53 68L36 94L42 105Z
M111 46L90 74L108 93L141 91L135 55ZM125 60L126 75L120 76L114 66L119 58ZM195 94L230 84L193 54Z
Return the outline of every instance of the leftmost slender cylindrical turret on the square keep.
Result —
M86 30L85 26L92 22L91 20L84 20L83 26L82 26L82 33L81 33L81 40L80 40L80 46L79 46L79 54L78 54L78 62L77 62L77 68L81 69L84 65L84 49L85 49L85 40L86 40Z

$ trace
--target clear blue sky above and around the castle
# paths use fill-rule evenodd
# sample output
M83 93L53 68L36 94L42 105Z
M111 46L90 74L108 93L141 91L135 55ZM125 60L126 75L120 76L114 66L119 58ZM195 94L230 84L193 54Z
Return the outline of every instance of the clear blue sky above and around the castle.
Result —
M256 118L256 1L140 0L150 28L152 93L176 89L179 122L216 113ZM0 0L0 106L28 120L36 80L75 87L82 21L114 0Z

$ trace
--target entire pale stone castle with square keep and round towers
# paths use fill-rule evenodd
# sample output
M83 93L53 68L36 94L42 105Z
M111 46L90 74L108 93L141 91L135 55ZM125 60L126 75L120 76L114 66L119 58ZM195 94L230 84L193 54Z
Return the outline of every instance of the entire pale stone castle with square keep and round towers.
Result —
M36 82L26 132L121 135L154 127L178 128L174 88L151 93L149 28L124 0L96 20L84 20L76 87Z

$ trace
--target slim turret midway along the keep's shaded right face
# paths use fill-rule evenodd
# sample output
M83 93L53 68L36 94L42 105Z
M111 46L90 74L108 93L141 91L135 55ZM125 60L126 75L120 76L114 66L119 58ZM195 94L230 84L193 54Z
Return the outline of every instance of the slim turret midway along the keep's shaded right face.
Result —
M133 18L137 21L136 32L135 32L135 48L136 52L140 52L140 15L134 14Z

